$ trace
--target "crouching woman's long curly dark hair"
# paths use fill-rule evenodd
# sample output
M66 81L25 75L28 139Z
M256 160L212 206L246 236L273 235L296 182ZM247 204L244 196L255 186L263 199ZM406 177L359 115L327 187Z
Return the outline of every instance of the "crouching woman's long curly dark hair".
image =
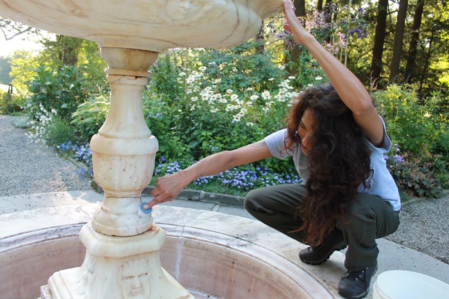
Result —
M312 110L314 125L307 156L307 194L298 207L307 236L305 243L321 244L335 219L343 217L356 198L359 186L367 186L371 175L370 150L352 111L343 103L334 86L312 86L303 91L287 115L287 148L300 144L298 126L305 110Z

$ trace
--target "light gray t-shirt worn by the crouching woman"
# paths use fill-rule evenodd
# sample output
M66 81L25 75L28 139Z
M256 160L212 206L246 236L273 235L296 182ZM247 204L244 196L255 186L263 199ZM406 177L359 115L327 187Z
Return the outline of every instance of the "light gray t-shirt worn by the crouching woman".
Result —
M392 175L388 171L387 162L383 157L384 153L390 151L392 145L391 139L390 137L388 137L387 131L385 130L385 123L383 123L383 130L385 134L383 138L383 144L380 148L377 148L376 146L372 145L371 142L366 140L367 145L369 146L371 151L371 168L373 170L373 173L369 179L371 185L370 188L365 190L363 185L361 185L359 188L359 192L382 197L383 200L390 202L394 211L399 211L401 209L401 198L399 197L399 191ZM285 128L265 137L265 142L269 148L269 151L274 157L277 157L279 159L293 157L293 162L299 175L304 180L307 180L309 178L309 161L307 155L304 155L299 146L285 149L286 138L287 129Z

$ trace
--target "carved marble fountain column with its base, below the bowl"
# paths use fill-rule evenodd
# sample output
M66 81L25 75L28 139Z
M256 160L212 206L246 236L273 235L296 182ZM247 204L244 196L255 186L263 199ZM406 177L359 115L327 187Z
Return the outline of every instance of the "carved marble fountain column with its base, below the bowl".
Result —
M161 267L165 231L151 214L137 213L158 148L142 111L142 90L157 52L101 48L101 53L109 66L111 107L90 148L104 201L79 233L87 251L82 266L53 274L41 298L193 298Z

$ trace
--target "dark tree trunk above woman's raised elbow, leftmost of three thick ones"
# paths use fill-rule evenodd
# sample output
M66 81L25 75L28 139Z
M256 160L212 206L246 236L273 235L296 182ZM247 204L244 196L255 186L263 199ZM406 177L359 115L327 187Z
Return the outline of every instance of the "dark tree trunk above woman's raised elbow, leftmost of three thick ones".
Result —
M372 86L374 88L378 87L382 74L382 55L386 35L385 28L387 27L387 8L388 0L379 0L377 5L376 33L374 35L374 47L372 49L370 70Z

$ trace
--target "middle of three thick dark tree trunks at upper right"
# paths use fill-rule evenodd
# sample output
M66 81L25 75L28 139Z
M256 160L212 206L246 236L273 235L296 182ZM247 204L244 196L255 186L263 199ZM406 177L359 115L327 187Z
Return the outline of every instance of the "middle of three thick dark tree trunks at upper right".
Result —
M396 21L396 31L394 32L393 57L390 66L390 77L388 84L393 84L399 75L399 64L401 63L403 37L405 29L405 17L407 16L408 0L399 1L399 11Z

